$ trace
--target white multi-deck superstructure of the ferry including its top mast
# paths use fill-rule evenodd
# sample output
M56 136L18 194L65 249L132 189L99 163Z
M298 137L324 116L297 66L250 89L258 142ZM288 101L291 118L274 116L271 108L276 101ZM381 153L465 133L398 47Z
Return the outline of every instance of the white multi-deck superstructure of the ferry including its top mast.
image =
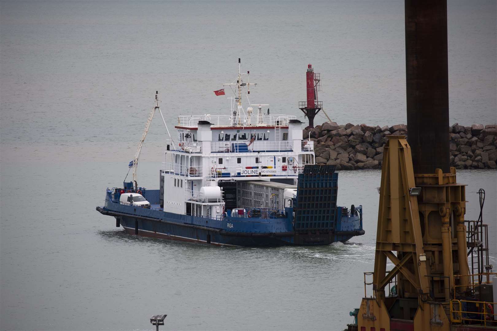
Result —
M296 184L304 165L315 163L314 141L303 139L295 116L265 113L267 104L244 109L241 91L255 84L241 77L239 69L236 82L224 84L236 87L229 115L178 117L177 136L167 142L161 170L164 211L215 218L224 212L222 189L228 184L235 184L235 194L236 181L293 179Z

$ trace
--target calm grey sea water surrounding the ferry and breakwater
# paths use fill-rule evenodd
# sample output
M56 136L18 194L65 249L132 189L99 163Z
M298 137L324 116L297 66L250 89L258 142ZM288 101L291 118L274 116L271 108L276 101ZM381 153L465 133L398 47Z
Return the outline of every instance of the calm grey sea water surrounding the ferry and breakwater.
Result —
M450 122L496 123L496 1L448 1ZM226 114L212 91L242 58L252 103L300 116L322 74L332 120L406 123L403 1L0 1L0 329L342 330L372 271L379 171L339 173L364 206L347 245L248 249L137 238L95 211L122 183L156 90L178 115ZM324 121L321 117L317 119ZM158 187L154 119L140 184ZM459 171L467 219L497 238L497 171ZM497 265L497 241L491 246Z

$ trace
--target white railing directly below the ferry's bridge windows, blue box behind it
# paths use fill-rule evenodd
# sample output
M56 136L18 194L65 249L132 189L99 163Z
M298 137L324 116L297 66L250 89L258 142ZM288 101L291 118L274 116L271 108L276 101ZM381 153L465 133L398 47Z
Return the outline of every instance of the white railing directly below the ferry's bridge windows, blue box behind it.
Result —
M306 140L307 141L307 140ZM311 141L314 142L314 141ZM292 151L293 146L291 141L266 141L255 140L250 142L237 141L219 141L211 143L212 153L232 152L288 152Z

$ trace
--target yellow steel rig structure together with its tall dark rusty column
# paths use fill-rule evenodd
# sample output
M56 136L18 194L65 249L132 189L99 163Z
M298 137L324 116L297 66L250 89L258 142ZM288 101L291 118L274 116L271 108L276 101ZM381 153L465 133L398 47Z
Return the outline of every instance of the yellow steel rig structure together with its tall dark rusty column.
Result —
M470 273L466 190L449 162L447 1L405 0L405 15L409 142L384 147L374 271L349 330L497 330L497 298L482 295L497 274Z

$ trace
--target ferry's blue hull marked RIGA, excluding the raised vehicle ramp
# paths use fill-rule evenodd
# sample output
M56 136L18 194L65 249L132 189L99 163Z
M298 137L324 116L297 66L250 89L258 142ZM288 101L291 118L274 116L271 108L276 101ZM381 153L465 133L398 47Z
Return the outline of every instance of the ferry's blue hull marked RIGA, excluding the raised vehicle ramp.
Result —
M280 218L226 216L212 219L164 212L159 205L143 208L122 204L112 201L108 192L105 205L96 209L104 215L114 216L116 225L122 226L132 235L212 245L328 245L338 241L346 242L353 236L364 234L360 206L356 209L357 215L342 216L336 229L314 231L314 233L294 231L293 208L285 208L285 214L288 216Z

